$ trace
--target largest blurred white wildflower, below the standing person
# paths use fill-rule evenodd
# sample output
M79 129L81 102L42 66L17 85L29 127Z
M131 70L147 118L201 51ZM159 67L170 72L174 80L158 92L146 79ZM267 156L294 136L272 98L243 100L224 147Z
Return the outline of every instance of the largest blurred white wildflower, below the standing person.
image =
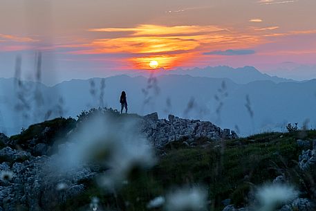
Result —
M98 163L108 169L100 176L100 185L122 185L131 169L151 167L156 162L153 147L138 126L136 118L106 114L86 120L58 155L62 172Z

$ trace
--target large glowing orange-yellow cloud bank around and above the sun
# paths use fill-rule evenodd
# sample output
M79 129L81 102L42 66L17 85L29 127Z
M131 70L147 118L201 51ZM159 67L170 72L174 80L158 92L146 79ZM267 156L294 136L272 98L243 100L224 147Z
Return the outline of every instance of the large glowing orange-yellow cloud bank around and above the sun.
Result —
M127 60L133 64L133 68L142 69L148 68L151 60L156 60L163 68L173 68L201 57L201 53L210 49L223 46L242 49L261 42L257 35L219 26L142 24L135 28L90 28L88 31L98 33L104 38L93 39L90 43L79 46L87 49L73 53L129 53L131 57Z

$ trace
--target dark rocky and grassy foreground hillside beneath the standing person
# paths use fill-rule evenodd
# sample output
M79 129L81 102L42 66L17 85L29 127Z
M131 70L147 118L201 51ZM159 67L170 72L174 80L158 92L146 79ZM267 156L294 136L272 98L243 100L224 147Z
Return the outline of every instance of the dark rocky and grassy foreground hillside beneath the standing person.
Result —
M210 122L174 116L165 121L156 114L91 110L77 120L31 125L10 138L1 134L0 208L140 211L169 210L172 204L176 210L180 199L172 194L180 188L189 201L185 193L198 188L198 197L205 194L205 207L194 210L259 210L256 192L271 183L298 192L273 210L314 210L315 131L237 138ZM201 132L208 128L220 133L189 137L196 133L190 132L190 124L206 124ZM171 135L181 131L186 134ZM167 142L153 137L167 137Z

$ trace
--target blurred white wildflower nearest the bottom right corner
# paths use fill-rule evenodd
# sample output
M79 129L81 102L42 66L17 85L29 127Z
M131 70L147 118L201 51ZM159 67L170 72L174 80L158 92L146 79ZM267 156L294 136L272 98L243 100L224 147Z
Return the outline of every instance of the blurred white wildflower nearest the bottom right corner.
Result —
M265 185L257 191L256 198L260 211L273 211L279 205L284 205L297 198L298 192L293 187L281 184Z

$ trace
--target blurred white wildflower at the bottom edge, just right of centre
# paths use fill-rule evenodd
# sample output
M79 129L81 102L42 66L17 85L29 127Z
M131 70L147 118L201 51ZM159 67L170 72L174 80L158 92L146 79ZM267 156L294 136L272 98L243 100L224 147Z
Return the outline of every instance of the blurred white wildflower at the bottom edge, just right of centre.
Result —
M206 205L207 192L205 190L200 187L185 187L167 196L166 210L205 210Z

